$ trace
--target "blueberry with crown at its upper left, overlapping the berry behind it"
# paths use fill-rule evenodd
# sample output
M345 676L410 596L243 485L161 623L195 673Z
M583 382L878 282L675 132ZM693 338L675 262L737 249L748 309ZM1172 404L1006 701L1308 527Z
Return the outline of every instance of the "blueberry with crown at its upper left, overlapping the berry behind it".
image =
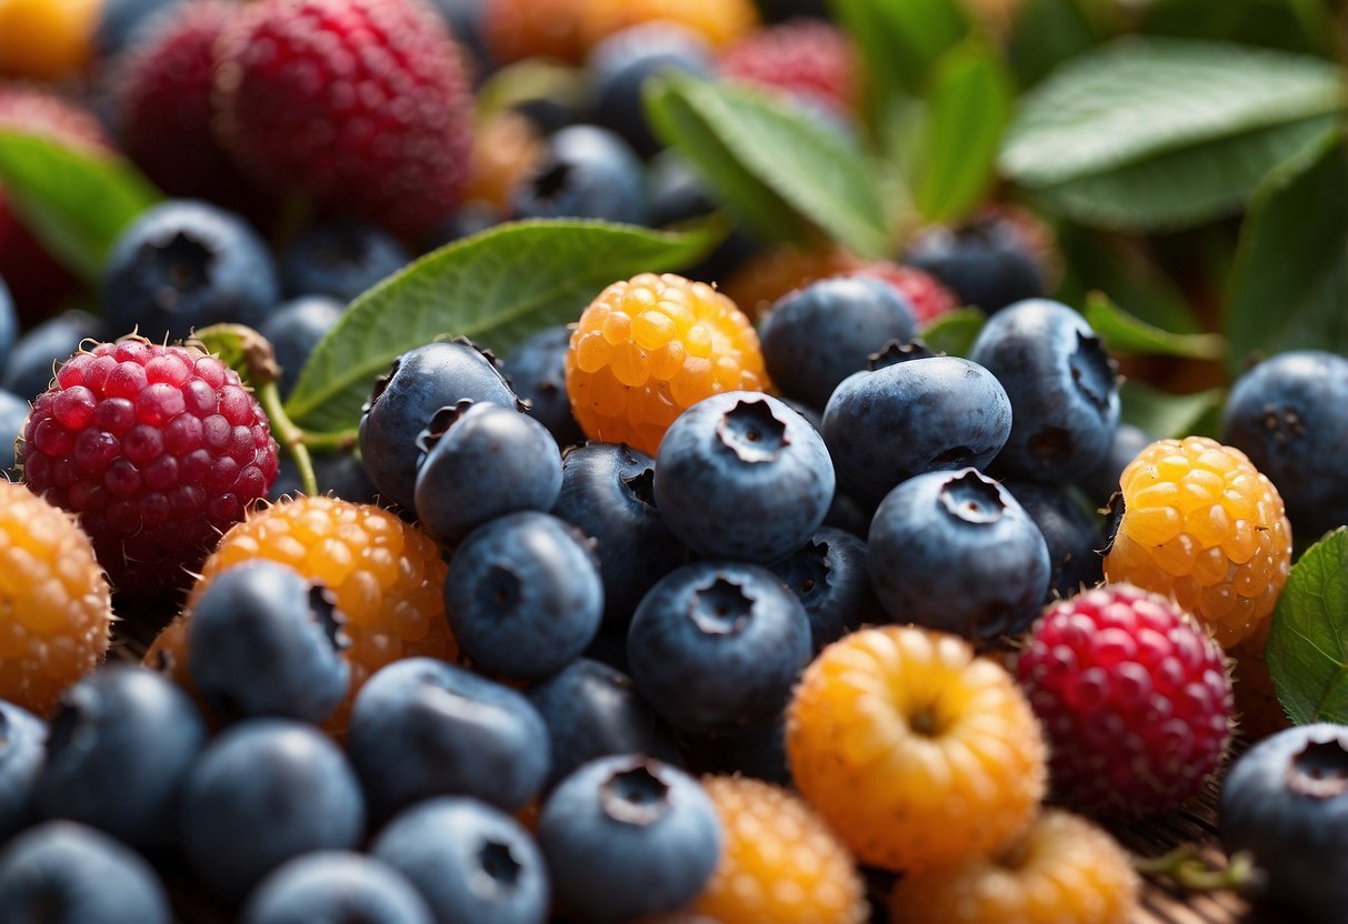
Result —
M417 519L453 544L519 510L550 510L562 490L562 454L538 420L514 407L462 400L435 412L418 438Z

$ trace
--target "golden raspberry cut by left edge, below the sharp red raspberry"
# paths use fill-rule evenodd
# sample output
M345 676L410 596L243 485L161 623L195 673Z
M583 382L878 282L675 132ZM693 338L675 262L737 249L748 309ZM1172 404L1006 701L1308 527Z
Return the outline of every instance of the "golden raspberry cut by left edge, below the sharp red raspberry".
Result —
M0 699L50 714L108 651L112 590L73 516L0 477Z

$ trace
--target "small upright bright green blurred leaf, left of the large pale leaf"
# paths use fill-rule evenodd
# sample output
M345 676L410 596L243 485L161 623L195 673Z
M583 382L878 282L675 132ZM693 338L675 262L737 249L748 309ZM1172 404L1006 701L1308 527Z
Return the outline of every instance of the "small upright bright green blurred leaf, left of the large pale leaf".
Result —
M1002 132L1011 119L1011 75L992 47L969 40L937 63L927 100L918 209L933 224L957 221L995 179Z

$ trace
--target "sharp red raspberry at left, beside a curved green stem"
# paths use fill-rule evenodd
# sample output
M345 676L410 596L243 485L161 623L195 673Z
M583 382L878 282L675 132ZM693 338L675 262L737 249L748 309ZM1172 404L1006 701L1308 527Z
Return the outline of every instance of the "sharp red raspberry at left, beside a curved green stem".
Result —
M19 450L28 488L80 515L120 590L185 585L276 480L276 442L239 374L139 337L70 357Z

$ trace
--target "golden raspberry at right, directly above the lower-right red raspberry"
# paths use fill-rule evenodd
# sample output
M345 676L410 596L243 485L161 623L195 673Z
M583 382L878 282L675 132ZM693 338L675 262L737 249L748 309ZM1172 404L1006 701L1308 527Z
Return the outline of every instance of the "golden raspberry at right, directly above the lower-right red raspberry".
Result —
M1282 497L1246 454L1206 436L1161 439L1123 470L1105 579L1174 597L1223 648L1262 644L1291 570Z

